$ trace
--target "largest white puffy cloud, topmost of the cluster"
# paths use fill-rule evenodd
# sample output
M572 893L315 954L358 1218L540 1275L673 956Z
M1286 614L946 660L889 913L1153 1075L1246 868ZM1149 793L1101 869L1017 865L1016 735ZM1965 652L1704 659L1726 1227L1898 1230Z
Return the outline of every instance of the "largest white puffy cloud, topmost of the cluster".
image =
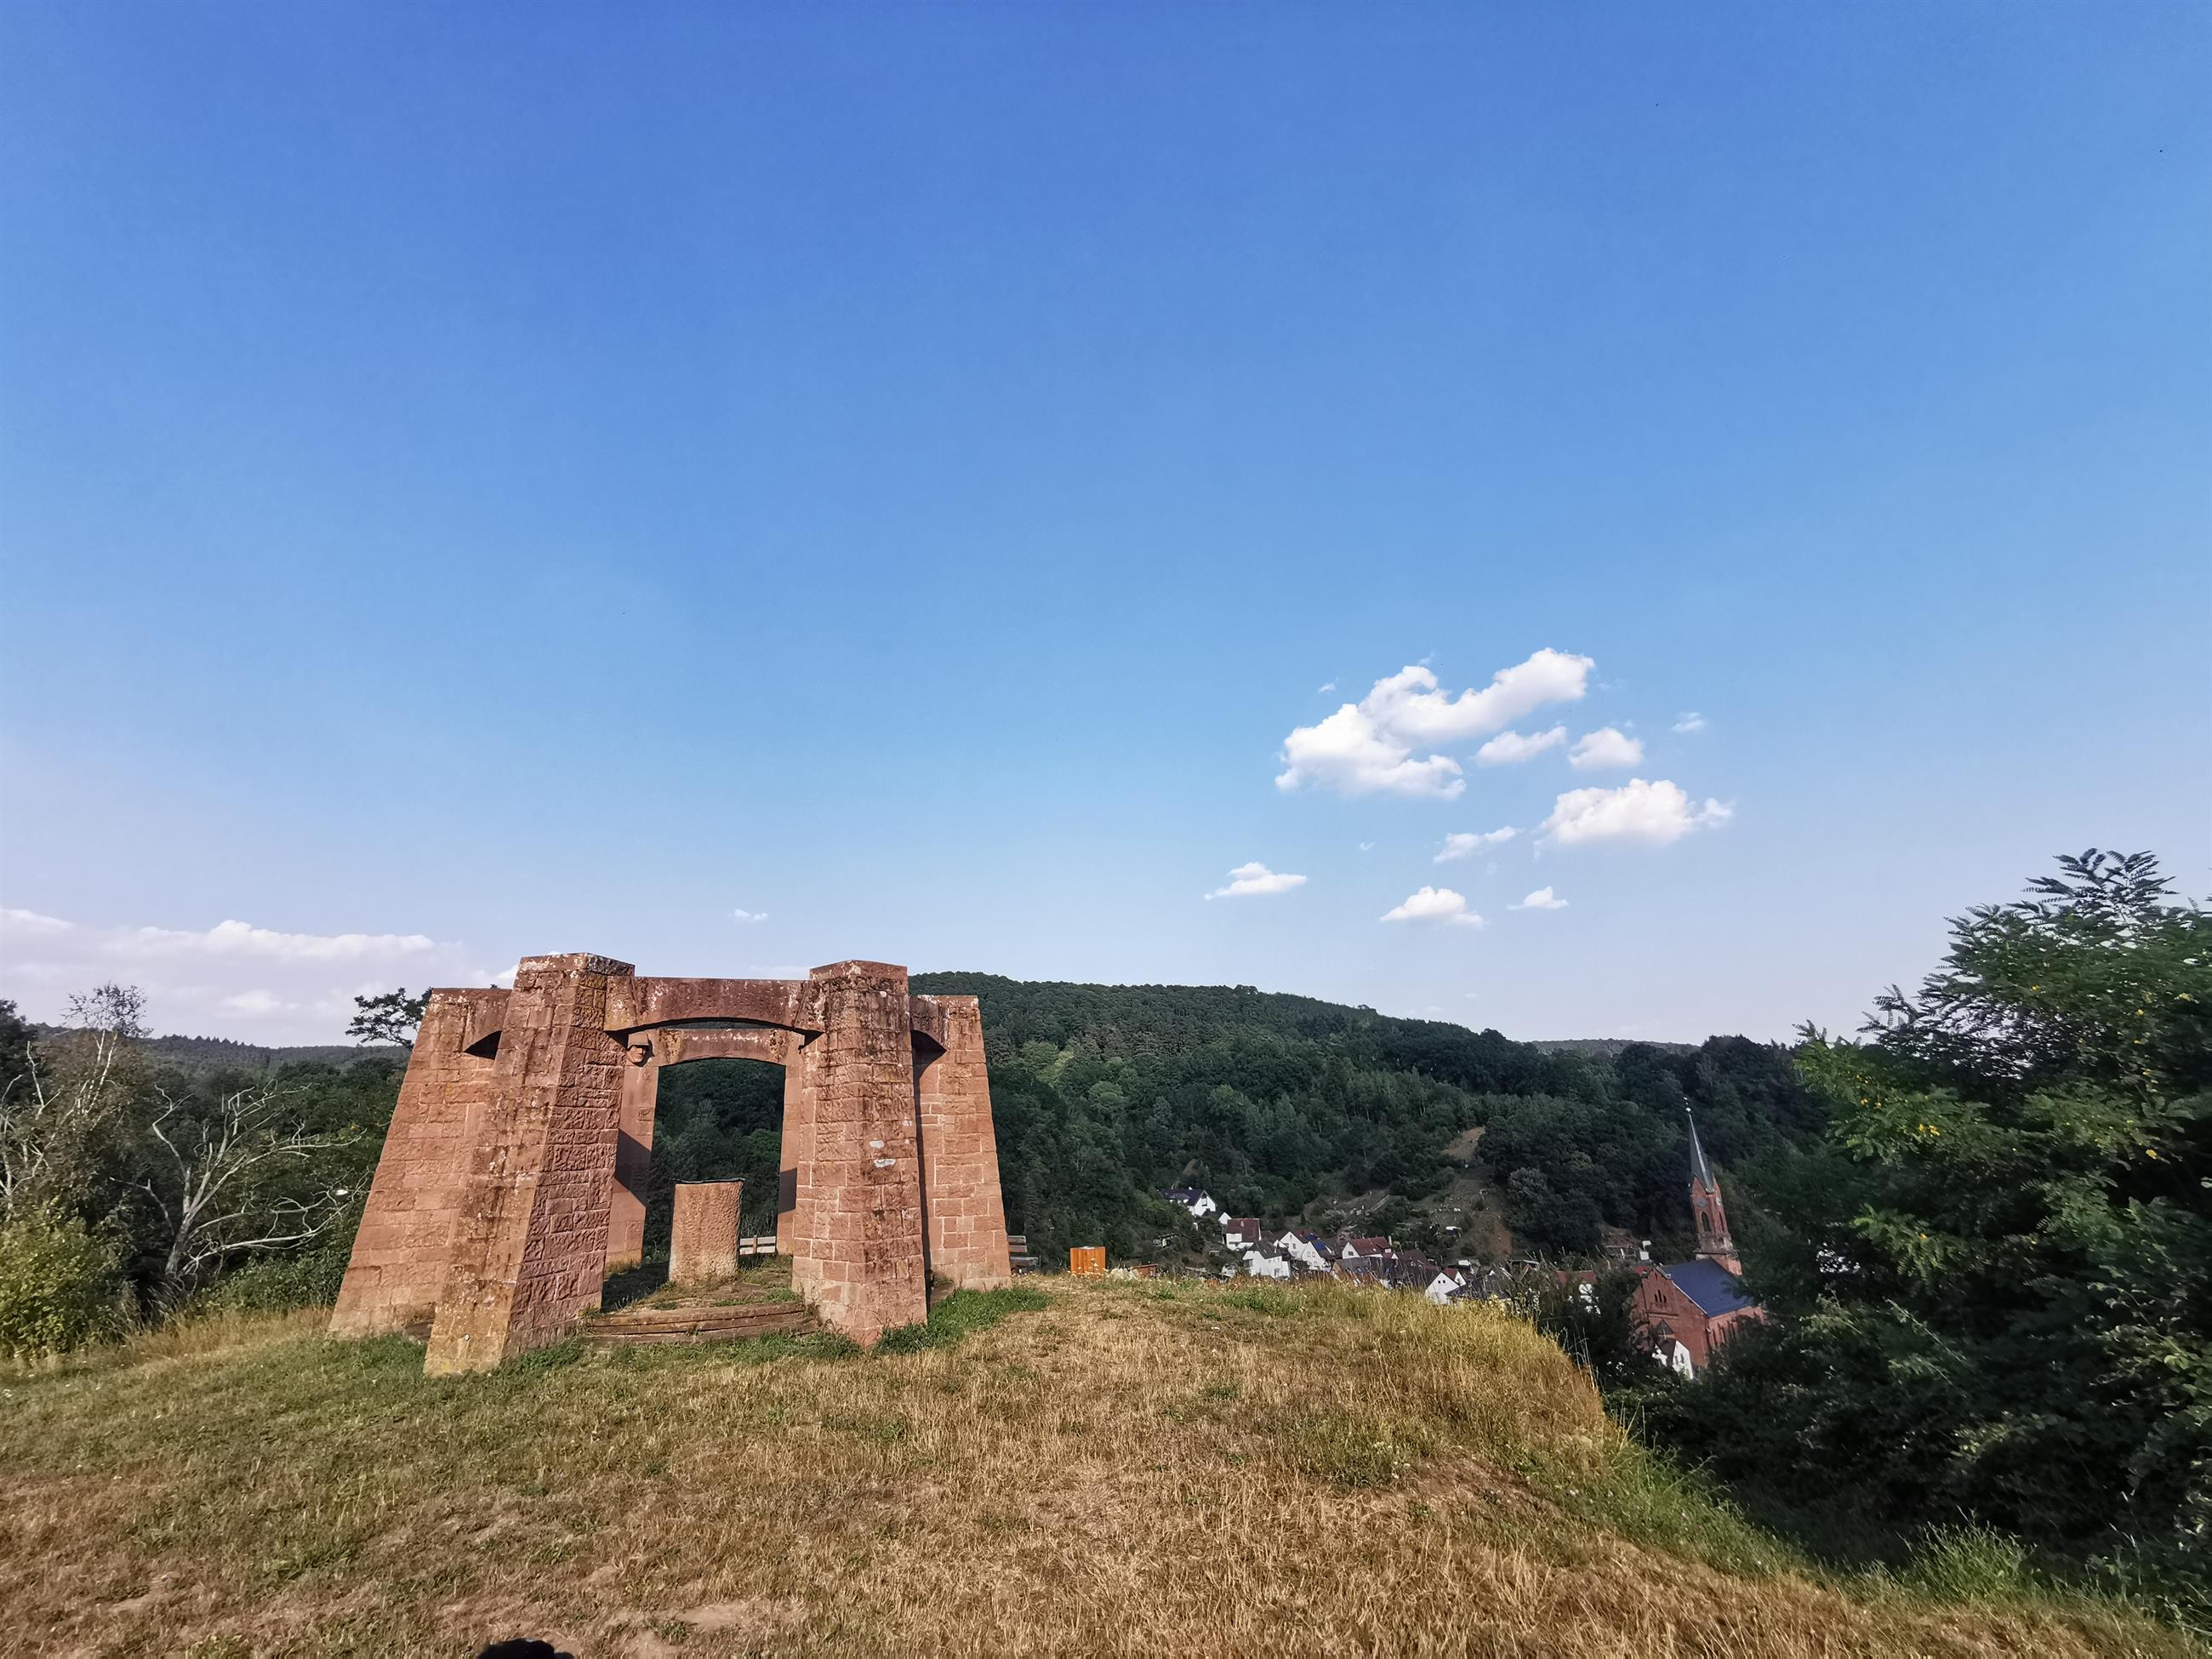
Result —
M1593 664L1564 650L1537 650L1500 668L1482 690L1438 690L1436 672L1413 664L1318 726L1283 739L1279 790L1310 783L1338 794L1413 794L1449 801L1467 787L1449 754L1416 754L1511 726L1544 703L1577 701Z

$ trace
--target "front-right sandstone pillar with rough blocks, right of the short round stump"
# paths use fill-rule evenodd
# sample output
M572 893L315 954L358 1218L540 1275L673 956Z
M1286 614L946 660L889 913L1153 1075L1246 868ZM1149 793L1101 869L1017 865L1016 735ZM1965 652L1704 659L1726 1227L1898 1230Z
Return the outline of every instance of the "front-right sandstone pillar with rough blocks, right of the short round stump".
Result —
M814 1128L792 1287L830 1329L874 1343L929 1316L907 971L836 962L807 975L807 993L821 1037L803 1051Z

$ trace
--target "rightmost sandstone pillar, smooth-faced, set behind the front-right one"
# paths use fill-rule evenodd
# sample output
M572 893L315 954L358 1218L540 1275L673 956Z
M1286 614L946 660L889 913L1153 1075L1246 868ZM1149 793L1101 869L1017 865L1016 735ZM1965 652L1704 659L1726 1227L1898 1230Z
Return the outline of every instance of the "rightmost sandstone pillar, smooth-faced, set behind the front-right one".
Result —
M916 1055L929 1272L956 1287L998 1290L1013 1283L1013 1263L1006 1256L1006 1208L998 1190L998 1133L991 1128L991 1075L982 1060L982 1009L975 998L931 1002L942 1015L945 1051L927 1064Z

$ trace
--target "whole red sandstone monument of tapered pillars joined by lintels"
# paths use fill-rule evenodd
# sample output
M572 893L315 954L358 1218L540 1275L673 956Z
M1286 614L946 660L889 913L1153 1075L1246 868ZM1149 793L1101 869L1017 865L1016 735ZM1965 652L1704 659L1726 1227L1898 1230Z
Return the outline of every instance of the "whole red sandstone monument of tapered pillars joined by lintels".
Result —
M531 956L513 991L431 993L332 1334L427 1321L429 1371L566 1336L628 1239L659 1066L708 1055L785 1066L776 1248L825 1325L874 1343L927 1316L931 1272L1009 1283L975 998L911 995L887 962L655 980Z

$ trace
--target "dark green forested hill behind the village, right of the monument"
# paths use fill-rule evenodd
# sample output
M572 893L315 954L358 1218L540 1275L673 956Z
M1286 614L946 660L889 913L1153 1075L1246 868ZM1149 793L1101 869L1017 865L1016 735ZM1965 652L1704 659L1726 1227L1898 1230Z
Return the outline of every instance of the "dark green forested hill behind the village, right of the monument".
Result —
M1743 1037L1562 1053L1252 987L922 973L914 989L982 1000L1009 1223L1040 1254L1144 1254L1179 1183L1261 1217L1425 1199L1475 1126L1520 1239L1588 1252L1608 1223L1686 1232L1683 1106L1721 1164L1820 1126L1790 1053Z

